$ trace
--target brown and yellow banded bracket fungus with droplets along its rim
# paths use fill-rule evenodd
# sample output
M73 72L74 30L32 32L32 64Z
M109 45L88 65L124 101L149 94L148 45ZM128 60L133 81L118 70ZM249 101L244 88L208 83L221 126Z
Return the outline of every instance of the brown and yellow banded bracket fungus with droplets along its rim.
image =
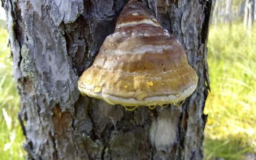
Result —
M178 104L194 92L197 82L179 41L146 6L131 0L78 87L82 95L132 111L140 105L153 109Z

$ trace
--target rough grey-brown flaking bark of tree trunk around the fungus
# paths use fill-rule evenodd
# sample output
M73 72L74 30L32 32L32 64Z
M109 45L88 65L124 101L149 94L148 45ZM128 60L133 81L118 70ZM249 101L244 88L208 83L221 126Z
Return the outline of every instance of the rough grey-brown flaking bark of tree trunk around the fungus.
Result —
M206 44L215 0L144 0L186 49L199 80L182 107L134 112L77 89L128 0L2 2L29 159L202 159Z

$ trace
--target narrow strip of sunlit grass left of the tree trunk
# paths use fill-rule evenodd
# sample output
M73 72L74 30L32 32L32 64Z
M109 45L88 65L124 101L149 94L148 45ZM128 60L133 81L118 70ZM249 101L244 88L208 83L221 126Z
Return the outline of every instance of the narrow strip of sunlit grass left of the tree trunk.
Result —
M0 159L24 159L23 134L17 120L20 97L12 78L8 33L0 28Z

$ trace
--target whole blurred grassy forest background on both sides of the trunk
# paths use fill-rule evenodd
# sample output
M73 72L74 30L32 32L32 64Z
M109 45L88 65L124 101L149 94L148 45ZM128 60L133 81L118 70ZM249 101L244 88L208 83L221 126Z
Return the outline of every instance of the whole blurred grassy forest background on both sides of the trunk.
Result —
M205 160L256 159L256 0L216 0L208 38ZM1 6L1 4L0 4ZM24 159L20 98L0 7L0 159Z

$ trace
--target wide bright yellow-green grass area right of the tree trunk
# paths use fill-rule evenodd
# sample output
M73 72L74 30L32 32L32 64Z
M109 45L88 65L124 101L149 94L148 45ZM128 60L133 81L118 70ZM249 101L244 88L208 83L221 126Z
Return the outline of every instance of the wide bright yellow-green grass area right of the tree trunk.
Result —
M204 113L205 159L241 160L256 153L256 27L212 26L208 41L211 93Z

